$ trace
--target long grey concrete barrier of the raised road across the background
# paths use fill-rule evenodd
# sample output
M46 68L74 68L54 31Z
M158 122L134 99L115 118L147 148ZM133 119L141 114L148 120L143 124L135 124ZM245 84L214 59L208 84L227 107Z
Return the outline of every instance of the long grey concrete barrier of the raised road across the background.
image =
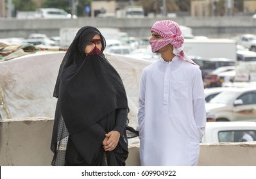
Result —
M107 19L107 18L78 18L78 19L40 19L40 20L1 20L0 38L28 37L31 33L44 33L47 36L59 36L62 27L117 27L130 36L150 36L150 28L162 18L143 19ZM169 18L170 19L170 18ZM197 36L230 36L241 33L256 34L256 19L252 17L176 17L175 20L182 26L192 28Z

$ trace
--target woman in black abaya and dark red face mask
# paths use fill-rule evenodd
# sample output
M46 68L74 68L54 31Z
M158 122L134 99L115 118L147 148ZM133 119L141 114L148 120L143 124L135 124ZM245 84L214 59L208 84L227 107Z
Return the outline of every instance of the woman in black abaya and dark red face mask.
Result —
M82 27L60 65L53 166L125 166L126 91L102 53L105 46L98 29Z

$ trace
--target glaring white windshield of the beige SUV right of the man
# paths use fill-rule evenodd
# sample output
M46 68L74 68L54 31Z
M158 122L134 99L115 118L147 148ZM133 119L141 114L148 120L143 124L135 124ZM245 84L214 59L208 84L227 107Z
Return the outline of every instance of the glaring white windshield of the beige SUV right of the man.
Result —
M239 92L237 91L223 91L219 93L216 97L210 100L210 103L219 103L219 104L230 104L232 101L237 98Z

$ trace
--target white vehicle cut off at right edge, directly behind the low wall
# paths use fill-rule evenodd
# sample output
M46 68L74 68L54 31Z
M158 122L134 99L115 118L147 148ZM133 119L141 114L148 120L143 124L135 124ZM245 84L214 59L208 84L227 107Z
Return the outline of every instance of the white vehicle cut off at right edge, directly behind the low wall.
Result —
M201 143L256 141L256 123L250 121L207 122Z

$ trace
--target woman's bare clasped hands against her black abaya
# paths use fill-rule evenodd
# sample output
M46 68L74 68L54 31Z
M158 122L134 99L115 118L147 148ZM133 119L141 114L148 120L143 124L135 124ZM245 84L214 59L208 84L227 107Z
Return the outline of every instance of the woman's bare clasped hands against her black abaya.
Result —
M105 151L112 151L118 144L120 138L120 133L116 130L112 130L105 134L105 139L103 140L103 148Z

